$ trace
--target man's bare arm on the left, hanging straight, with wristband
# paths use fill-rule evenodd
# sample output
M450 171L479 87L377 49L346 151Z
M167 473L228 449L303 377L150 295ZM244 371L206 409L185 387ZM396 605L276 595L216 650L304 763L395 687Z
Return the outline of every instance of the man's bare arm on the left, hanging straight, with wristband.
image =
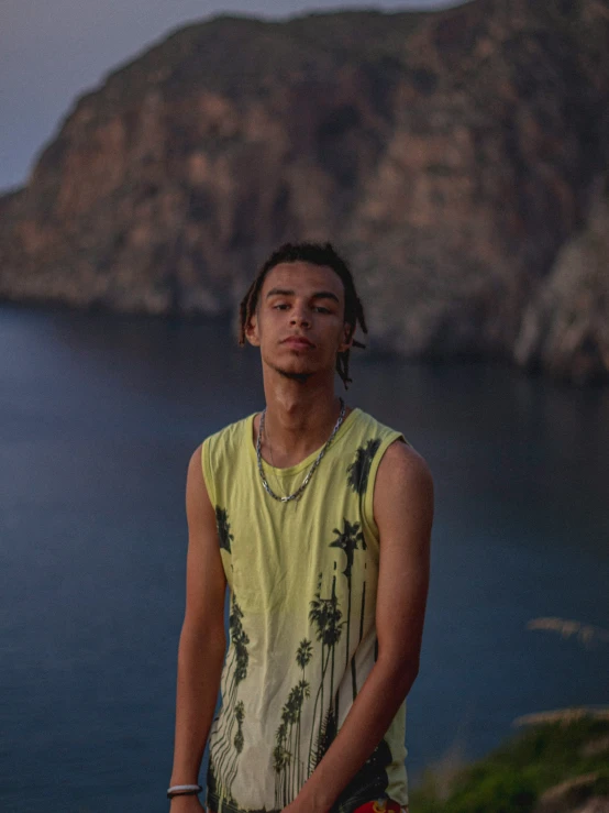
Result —
M186 481L188 557L186 613L178 648L176 737L171 784L196 784L213 719L224 660L224 593L215 513L201 470L201 448L192 454ZM171 811L196 809L178 796ZM200 810L200 807L198 807Z

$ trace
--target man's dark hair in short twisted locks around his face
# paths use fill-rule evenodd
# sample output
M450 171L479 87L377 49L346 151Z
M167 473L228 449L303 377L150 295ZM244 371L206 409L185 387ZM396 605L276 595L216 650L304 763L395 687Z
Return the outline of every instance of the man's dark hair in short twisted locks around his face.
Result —
M239 308L239 343L241 347L245 344L245 331L258 305L258 296L266 275L280 263L297 262L332 268L341 277L345 290L345 322L348 325L348 337L353 336L357 325L364 333L368 332L364 308L355 290L353 276L347 264L336 253L334 246L331 243L284 243L262 265L241 300ZM365 348L366 345L353 340L353 347ZM345 389L353 381L348 377L350 353L351 348L336 355L336 372L341 376Z

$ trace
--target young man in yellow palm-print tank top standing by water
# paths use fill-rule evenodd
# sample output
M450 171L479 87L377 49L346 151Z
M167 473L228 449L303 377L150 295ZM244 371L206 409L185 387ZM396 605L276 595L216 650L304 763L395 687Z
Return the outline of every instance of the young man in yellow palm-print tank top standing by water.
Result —
M203 810L208 735L210 813L407 809L433 483L400 432L334 394L357 325L329 243L281 246L241 305L266 408L208 438L188 469L171 813Z

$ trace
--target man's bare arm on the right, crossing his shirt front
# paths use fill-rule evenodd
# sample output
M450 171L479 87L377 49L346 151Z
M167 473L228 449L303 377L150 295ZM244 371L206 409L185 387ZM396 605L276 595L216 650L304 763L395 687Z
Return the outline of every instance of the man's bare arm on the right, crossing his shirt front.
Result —
M341 730L286 813L325 813L383 739L419 671L429 584L433 481L424 460L392 443L377 473L380 535L378 659Z

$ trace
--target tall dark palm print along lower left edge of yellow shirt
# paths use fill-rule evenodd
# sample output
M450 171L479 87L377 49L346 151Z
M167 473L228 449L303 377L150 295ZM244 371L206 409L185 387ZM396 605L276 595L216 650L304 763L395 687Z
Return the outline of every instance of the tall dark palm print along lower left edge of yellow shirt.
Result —
M245 706L237 701L239 684L247 677L250 655L247 644L250 638L243 629L243 612L233 593L232 608L229 616L231 635L231 655L226 663L226 693L222 697L223 714L217 730L217 738L211 748L210 763L213 762L215 772L222 777L222 784L232 799L231 788L236 777L239 755L243 750L243 721ZM236 732L235 732L236 725Z

